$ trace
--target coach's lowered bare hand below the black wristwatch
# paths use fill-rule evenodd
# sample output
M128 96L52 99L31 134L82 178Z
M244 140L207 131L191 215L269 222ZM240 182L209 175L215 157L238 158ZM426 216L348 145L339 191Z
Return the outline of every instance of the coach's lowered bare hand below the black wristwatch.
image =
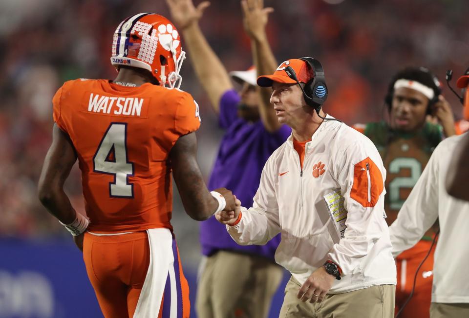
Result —
M321 302L324 300L329 289L331 289L335 279L334 276L326 272L324 266L321 266L299 288L297 297L303 302L308 299L311 303Z

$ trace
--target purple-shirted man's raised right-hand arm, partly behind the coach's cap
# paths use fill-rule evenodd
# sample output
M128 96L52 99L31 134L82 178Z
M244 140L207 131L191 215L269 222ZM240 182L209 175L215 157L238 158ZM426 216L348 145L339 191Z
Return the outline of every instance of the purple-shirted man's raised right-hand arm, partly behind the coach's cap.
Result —
M246 33L251 38L251 50L257 75L273 74L277 68L277 60L272 53L265 27L269 13L273 8L264 8L263 0L241 0L243 11L243 24ZM269 88L257 87L260 96L259 115L264 127L269 132L275 132L280 128L274 107L270 103L272 94Z

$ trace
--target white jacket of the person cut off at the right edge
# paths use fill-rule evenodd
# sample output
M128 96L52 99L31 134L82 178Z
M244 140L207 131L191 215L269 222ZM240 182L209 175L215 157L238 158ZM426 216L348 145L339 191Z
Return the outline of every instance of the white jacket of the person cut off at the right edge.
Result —
M450 168L448 163L461 138L456 136L440 142L397 219L389 227L392 253L397 256L414 246L439 218L440 236L433 263L432 302L469 302L469 278L466 275L469 264L469 203L449 196L445 188ZM468 188L467 184L461 186Z

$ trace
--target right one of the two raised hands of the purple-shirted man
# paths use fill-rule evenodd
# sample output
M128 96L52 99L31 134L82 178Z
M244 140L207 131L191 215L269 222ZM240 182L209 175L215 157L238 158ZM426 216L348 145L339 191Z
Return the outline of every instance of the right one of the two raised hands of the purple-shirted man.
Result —
M266 39L265 26L274 8L264 8L263 0L241 0L244 30L253 40Z

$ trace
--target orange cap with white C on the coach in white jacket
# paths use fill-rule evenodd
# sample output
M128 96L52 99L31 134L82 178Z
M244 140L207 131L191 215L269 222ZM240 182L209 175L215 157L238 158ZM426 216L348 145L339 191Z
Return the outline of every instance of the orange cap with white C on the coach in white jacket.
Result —
M278 65L274 74L259 76L257 78L257 85L260 87L270 87L272 86L273 82L295 84L296 81L292 80L285 72L285 68L288 66L293 68L297 74L298 81L300 82L307 83L314 77L314 71L308 67L306 61L300 59L291 59L286 60Z

